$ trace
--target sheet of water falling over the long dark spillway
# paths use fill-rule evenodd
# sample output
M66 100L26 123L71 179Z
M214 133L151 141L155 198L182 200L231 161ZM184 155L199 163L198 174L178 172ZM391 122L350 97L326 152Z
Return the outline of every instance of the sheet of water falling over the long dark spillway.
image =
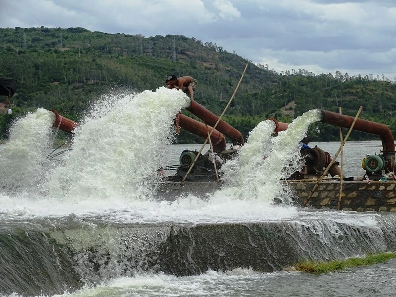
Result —
M301 211L280 221L196 225L106 223L76 216L0 223L0 296L51 296L82 284L156 273L272 272L301 260L392 251L395 226L394 214L334 211Z

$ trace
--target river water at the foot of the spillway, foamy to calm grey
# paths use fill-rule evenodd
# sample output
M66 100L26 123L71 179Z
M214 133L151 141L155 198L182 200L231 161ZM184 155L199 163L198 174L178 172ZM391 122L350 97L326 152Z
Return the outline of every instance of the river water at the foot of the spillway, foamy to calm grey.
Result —
M175 277L164 274L122 278L73 296L304 297L394 296L396 260L343 272L311 275L298 272L257 273L249 269Z

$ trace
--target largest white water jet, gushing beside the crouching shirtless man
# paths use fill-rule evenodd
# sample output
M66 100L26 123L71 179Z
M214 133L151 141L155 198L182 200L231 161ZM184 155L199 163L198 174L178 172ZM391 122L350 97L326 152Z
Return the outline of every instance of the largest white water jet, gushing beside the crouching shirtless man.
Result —
M163 87L97 103L76 129L65 166L53 173L50 196L147 198L173 118L188 104L184 93Z

